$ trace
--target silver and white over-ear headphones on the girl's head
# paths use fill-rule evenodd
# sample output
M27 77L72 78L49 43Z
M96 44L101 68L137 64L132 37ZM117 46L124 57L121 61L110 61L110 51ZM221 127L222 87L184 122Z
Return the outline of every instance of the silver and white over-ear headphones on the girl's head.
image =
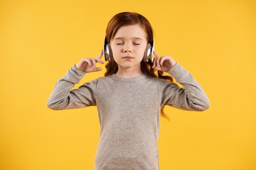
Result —
M153 39L153 44L148 43L146 50L144 52L144 57L143 57L143 61L148 63L148 61L151 61L153 63L154 61L154 57L153 57L153 52L155 50L155 42ZM105 61L114 61L113 58L113 54L112 54L112 50L110 47L110 43L108 43L107 41L107 37L105 36L105 40L104 40L104 46L103 46L103 54L105 57Z

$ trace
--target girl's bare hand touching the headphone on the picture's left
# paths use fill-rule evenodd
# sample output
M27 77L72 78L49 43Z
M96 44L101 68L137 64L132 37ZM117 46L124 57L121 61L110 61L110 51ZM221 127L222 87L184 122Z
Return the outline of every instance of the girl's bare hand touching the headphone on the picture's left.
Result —
M79 61L79 63L75 65L76 69L87 72L87 73L101 71L102 68L96 67L96 63L98 62L98 63L104 64L104 61L101 60L102 55L103 55L103 50L101 50L101 53L96 58L81 59L81 61Z

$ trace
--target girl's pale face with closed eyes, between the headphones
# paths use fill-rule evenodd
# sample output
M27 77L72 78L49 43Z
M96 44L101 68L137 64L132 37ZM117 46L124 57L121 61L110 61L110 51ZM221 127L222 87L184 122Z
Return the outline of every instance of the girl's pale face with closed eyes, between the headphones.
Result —
M118 68L139 68L148 42L139 25L122 26L110 42Z

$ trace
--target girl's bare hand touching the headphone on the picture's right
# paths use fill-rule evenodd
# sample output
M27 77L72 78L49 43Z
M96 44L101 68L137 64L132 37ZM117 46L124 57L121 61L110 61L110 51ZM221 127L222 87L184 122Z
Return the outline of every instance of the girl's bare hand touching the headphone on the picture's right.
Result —
M154 51L155 54L155 61L153 61L152 68L161 72L168 72L176 62L171 56L162 56L160 57L157 52Z

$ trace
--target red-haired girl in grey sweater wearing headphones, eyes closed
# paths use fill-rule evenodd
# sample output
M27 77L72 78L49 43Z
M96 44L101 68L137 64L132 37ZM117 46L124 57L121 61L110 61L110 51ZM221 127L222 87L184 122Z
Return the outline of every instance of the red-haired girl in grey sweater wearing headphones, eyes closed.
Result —
M72 90L86 73L102 70L96 63L104 63L103 51L96 58L84 58L58 80L47 106L54 110L97 106L101 132L95 170L158 170L160 113L167 117L164 105L204 111L209 100L179 63L153 51L153 29L142 15L124 12L112 17L105 41L104 56L109 60L105 77Z

